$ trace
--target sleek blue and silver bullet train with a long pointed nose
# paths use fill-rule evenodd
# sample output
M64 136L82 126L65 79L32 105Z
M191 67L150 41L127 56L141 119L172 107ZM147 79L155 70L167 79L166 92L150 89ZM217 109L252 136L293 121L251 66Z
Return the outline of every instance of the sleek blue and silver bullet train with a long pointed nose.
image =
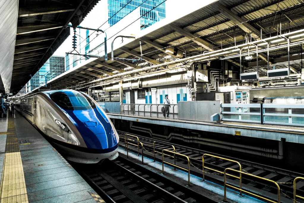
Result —
M98 163L118 157L114 125L85 93L70 89L39 92L16 101L15 109L68 160Z

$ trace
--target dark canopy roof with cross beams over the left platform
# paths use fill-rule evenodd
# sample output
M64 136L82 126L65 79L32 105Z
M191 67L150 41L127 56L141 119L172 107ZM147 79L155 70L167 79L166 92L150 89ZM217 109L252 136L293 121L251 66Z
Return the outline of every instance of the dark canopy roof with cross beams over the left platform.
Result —
M5 45L7 41L0 43L4 45L2 49L14 50L6 56L8 66L5 71L12 73L11 78L10 74L0 71L5 90L11 90L13 93L17 93L29 81L67 38L70 34L67 24L78 26L98 0L17 2L18 0L6 1L2 8L6 9L7 13L2 12L0 16L3 20L7 19L7 16L11 19L4 21L6 25L2 24L2 32L5 26L13 27L14 31L6 33L12 39L9 45L13 46L15 40L14 47Z

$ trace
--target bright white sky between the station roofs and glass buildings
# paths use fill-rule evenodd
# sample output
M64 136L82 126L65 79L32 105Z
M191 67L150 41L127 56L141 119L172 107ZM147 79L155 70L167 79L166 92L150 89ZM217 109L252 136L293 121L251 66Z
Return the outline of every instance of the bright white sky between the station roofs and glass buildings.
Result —
M188 13L191 13L215 1L217 0L167 0L165 2L166 18L161 21L174 21L176 19L181 18L182 16L185 16ZM91 10L91 12L85 17L85 19L81 22L80 26L97 29L103 23L105 23L105 25L102 26L101 29L107 29L109 27L109 25L106 23L108 21L107 10L107 0L100 0L97 5L95 5L95 7ZM65 56L65 52L72 51L72 35L73 30L71 28L71 35L67 37L64 43L61 44L61 46L54 52L54 56ZM109 37L111 36L108 36L108 38Z

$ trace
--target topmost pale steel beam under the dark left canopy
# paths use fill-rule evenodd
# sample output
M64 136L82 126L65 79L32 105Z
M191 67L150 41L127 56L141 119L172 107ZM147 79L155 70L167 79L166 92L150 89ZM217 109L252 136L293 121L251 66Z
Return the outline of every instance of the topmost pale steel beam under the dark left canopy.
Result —
M45 14L54 14L54 13L62 13L62 12L70 12L74 11L72 8L63 8L60 7L36 7L36 8L19 8L18 17L26 17L26 16L38 16Z

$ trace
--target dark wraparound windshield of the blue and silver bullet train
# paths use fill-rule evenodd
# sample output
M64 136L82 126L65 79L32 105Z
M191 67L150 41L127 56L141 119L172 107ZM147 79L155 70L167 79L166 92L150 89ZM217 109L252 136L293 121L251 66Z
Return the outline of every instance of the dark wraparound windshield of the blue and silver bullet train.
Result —
M67 95L63 92L50 94L50 98L65 110L87 110L95 108L95 104L82 94Z

